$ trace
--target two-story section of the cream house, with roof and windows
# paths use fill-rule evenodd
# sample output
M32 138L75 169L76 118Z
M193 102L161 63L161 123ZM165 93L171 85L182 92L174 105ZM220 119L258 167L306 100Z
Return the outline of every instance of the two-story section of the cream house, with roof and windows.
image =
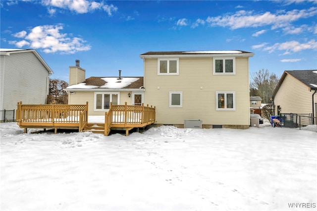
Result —
M148 52L144 102L156 106L156 124L249 128L249 58L244 51Z

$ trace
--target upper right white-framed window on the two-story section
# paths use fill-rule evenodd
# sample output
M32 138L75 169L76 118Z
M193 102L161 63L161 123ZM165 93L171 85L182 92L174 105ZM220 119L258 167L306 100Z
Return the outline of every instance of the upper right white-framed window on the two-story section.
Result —
M213 58L213 74L235 74L235 58Z

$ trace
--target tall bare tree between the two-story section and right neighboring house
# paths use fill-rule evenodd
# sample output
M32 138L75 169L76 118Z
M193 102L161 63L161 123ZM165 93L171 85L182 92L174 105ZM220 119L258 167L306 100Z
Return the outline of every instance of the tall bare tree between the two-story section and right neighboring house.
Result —
M264 104L270 103L270 98L278 83L275 73L269 73L266 69L259 70L251 75L250 95L260 96Z

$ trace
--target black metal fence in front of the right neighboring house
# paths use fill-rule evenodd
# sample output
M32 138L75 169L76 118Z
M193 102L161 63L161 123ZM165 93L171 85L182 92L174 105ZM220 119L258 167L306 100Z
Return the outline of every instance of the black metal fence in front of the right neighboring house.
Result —
M282 127L299 128L308 125L316 125L317 118L313 117L312 113L297 114L297 113L281 113L280 124Z

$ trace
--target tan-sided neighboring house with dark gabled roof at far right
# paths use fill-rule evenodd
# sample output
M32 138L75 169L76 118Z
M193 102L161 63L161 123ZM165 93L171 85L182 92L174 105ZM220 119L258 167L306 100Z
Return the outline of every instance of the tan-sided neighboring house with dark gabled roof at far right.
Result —
M316 115L317 70L283 72L272 95L274 113Z

